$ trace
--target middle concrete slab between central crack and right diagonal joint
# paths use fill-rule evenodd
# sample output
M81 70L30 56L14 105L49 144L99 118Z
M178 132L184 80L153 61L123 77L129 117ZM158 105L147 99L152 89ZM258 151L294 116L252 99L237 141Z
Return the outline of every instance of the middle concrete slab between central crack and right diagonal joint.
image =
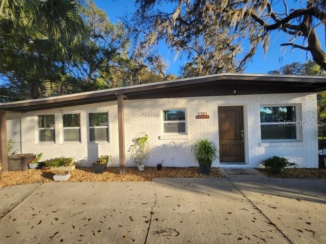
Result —
M224 179L155 179L157 201L148 243L287 243ZM162 231L176 230L178 236Z

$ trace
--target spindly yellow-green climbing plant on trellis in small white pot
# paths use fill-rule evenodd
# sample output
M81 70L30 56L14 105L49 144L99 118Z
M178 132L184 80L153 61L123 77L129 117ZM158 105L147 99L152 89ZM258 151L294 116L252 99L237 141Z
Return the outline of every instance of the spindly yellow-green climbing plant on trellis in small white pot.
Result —
M138 166L140 171L145 169L145 160L149 157L149 136L141 132L135 136L133 145L130 148L130 158L133 159L134 163Z

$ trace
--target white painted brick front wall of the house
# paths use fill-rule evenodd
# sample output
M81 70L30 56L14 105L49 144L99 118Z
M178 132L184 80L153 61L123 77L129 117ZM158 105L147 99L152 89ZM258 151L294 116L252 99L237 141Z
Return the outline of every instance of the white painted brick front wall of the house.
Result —
M318 166L317 127L305 125L298 131L298 142L262 143L260 136L261 105L297 106L298 119L317 119L317 100L315 94L273 94L245 95L223 97L173 98L149 100L125 100L125 148L127 166L134 166L129 159L128 149L132 139L139 132L149 135L151 155L149 166L164 161L165 166L196 166L191 154L191 144L200 138L207 138L218 144L218 107L242 105L245 129L245 155L249 167L256 167L262 160L276 156L287 157L300 167ZM164 109L185 108L187 117L187 135L166 136L162 133L161 111ZM88 142L87 113L108 111L110 120L110 142ZM80 112L82 126L82 143L60 143L60 125L56 123L56 143L37 144L37 115ZM198 112L207 112L209 119L196 119ZM57 121L56 121L57 122ZM44 153L44 160L66 156L74 157L80 166L90 166L99 155L113 156L110 166L119 165L117 103L107 102L80 105L46 111L27 112L22 114L22 151L23 153ZM214 166L220 166L215 162Z

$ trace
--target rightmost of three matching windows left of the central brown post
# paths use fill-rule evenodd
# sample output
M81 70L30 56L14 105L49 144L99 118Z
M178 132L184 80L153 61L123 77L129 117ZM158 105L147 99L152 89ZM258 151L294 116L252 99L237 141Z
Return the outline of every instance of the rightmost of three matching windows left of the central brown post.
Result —
M108 141L108 113L89 113L90 141Z

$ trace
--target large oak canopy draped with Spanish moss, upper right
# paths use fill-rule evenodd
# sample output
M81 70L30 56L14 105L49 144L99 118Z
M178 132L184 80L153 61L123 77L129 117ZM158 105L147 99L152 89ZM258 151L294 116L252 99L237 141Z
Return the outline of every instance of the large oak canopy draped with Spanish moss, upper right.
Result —
M326 2L296 1L296 9L290 9L286 1L274 2L137 0L137 12L125 22L132 22L130 31L140 40L142 50L165 40L177 53L188 55L183 76L241 72L259 44L267 52L274 31L290 37L282 46L310 52L315 63L326 70L326 54L315 31L326 23ZM162 10L161 3L170 8ZM283 12L274 11L276 5Z

